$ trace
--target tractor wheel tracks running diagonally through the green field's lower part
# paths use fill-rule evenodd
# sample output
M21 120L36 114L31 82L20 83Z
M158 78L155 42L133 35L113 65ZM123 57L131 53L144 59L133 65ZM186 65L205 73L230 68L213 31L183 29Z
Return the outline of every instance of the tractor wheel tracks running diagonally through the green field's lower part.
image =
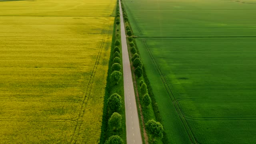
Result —
M164 81L166 81L166 80L164 79L162 71L160 70L160 68L158 67L158 64L156 63L156 60L154 59L154 56L152 55L152 53L149 50L148 44L146 43L146 39L143 39L142 41L143 41L143 43L144 43L144 45L146 47L146 50L148 51L148 54L150 55L150 58L152 59L152 62L154 63L154 65L155 65L155 67L156 67L156 69L158 71L158 74L160 75L161 80L162 80L162 82L164 84ZM166 88L166 90L168 92L168 95L170 96L170 99L172 100L174 108L175 108L177 114L180 117L180 120L181 120L181 122L182 122L182 124L183 124L183 126L184 126L184 128L185 128L185 130L187 132L187 134L188 134L188 137L190 138L190 141L192 143L198 144L198 142L196 141L196 138L194 137L194 134L193 134L191 128L188 126L188 122L186 121L186 119L184 118L182 113L180 112L181 111L180 107L178 106L178 104L176 102L176 99L175 99L174 95L172 94L172 91L170 91L169 86L166 86L166 84L164 84L164 86L165 86L165 88Z

